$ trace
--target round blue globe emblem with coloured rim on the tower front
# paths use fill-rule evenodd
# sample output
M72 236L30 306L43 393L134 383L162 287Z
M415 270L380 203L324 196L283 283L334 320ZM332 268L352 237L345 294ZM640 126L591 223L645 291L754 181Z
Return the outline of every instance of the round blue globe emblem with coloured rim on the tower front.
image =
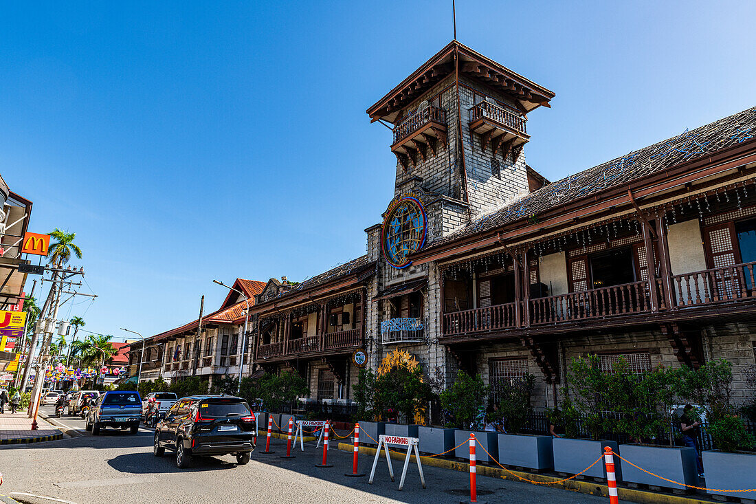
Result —
M383 221L383 257L397 269L410 266L410 254L423 247L426 240L426 214L417 198L398 198Z

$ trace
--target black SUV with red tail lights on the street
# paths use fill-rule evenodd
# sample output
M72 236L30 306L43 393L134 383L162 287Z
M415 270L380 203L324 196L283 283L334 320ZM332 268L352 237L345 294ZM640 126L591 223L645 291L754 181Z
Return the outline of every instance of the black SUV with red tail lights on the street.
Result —
M155 456L175 450L176 465L186 468L193 455L236 454L240 465L255 449L255 415L233 396L191 396L178 400L155 428Z

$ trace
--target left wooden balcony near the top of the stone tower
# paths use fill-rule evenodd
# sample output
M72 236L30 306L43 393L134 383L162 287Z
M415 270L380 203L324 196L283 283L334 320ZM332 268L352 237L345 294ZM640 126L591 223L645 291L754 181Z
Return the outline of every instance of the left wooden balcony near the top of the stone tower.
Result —
M391 151L404 170L435 156L439 148L446 148L446 111L442 108L428 105L394 127Z

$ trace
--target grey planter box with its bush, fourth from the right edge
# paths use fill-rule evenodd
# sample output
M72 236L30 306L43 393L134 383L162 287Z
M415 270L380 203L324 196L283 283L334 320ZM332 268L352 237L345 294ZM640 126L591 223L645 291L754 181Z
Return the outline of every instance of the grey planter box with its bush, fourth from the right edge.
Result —
M501 464L516 465L538 471L553 468L551 436L519 434L531 412L530 398L535 377L526 375L500 384L495 417L503 425L506 434L498 434L498 459Z

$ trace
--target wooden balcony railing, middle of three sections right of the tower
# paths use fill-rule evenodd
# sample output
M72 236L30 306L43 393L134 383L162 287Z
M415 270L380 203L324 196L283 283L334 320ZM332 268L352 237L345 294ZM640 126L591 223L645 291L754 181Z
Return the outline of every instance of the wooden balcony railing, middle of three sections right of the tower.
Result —
M649 311L649 282L612 285L530 300L530 322L533 325Z

